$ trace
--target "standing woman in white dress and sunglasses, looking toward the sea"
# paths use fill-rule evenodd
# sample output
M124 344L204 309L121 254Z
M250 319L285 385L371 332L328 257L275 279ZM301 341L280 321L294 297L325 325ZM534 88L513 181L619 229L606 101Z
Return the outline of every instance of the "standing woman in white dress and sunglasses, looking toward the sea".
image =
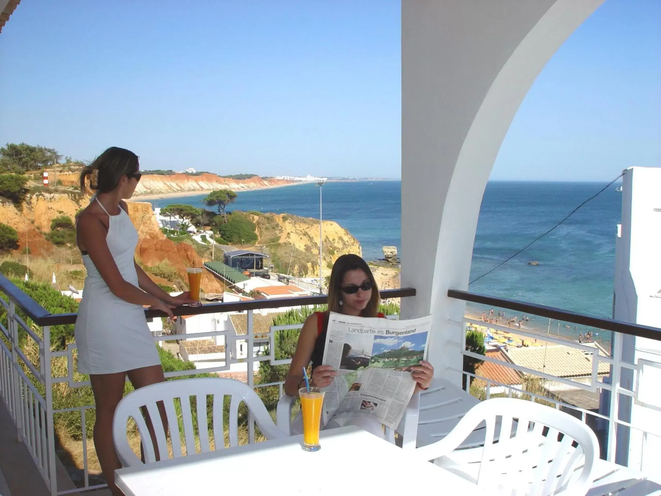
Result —
M77 244L87 269L75 325L78 371L89 374L97 407L94 443L113 495L114 471L121 468L112 443L112 418L122 399L126 376L141 388L162 382L163 368L145 319L145 306L171 317L172 308L192 303L188 293L172 297L137 265L137 231L126 212L141 174L138 157L110 147L81 173L97 190L77 219Z

